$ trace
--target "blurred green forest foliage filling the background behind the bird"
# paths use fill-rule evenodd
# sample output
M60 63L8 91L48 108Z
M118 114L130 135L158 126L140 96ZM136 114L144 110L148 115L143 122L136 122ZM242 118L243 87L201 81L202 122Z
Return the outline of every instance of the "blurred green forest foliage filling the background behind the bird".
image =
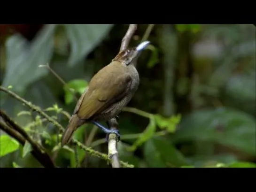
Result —
M115 57L128 25L32 25L8 24L12 34L0 25L1 85L65 127L76 98ZM146 28L139 24L131 46ZM255 33L252 24L155 24L152 44L138 61L140 86L119 115L120 160L135 167L255 168ZM47 63L50 69L42 68ZM52 124L7 94L0 97L0 108L47 148L57 166L75 167L74 148L60 148ZM104 133L91 124L74 138L107 153ZM29 143L20 146L0 131L0 167L41 167L30 151ZM81 149L78 157L81 167L108 167Z

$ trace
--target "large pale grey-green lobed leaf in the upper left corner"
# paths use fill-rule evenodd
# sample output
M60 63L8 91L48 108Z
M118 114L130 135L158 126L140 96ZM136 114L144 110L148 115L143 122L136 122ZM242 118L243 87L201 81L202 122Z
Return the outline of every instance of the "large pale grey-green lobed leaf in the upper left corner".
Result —
M23 92L26 86L47 73L38 66L52 57L55 24L47 24L29 44L20 35L13 35L6 42L7 66L3 86L12 85L14 92Z

